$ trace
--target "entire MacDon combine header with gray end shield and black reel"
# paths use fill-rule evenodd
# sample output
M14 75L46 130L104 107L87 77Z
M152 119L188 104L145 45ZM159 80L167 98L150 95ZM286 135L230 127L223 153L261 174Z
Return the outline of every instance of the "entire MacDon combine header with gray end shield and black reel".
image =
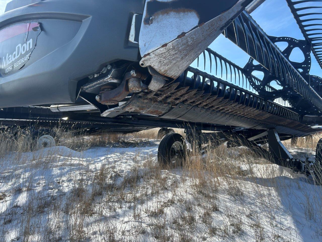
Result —
M320 1L287 0L305 40L267 35L250 16L262 2L14 0L0 15L0 104L185 128L185 140L164 136L160 163L228 141L319 184L322 141L313 162L293 158L280 140L322 131L322 80L309 74L320 39L302 19L317 13L299 13ZM208 48L220 34L250 55L244 67ZM295 48L304 61L290 60Z

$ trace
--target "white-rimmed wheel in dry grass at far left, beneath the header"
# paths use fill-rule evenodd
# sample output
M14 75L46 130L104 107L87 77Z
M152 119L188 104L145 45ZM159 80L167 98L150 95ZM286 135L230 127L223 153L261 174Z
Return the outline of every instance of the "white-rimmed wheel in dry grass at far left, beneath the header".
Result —
M57 135L51 129L44 128L35 130L32 137L36 150L53 147L58 143Z

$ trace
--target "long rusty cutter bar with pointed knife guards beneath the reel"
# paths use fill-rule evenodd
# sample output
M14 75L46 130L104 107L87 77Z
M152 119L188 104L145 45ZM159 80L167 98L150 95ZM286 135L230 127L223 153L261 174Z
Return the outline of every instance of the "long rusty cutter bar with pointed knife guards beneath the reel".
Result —
M200 122L254 129L275 128L279 133L305 135L316 132L303 123L303 117L272 101L264 100L256 94L229 84L219 78L210 76L190 67L189 72L215 80L217 86L224 84L225 92L220 88L212 94L187 87L178 83L152 91L143 89L133 95L122 106L123 111L156 115L164 119L177 119L187 122ZM216 92L218 95L216 95ZM236 98L234 94L242 94ZM312 121L312 120L311 120Z

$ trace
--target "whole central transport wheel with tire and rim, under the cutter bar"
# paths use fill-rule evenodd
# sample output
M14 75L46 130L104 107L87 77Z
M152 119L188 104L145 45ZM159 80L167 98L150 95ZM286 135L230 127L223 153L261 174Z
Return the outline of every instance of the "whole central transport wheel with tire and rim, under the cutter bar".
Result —
M158 162L162 165L181 166L185 158L185 141L177 133L166 134L158 148Z

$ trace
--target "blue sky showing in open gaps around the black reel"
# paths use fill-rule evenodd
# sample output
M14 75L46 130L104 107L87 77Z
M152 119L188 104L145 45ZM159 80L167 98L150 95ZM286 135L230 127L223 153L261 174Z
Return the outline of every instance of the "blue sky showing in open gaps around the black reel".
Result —
M0 0L0 13L4 12L5 5L9 1ZM266 0L251 15L268 35L304 39L285 0ZM223 35L220 35L210 48L241 67L245 66L249 59L245 52L225 39ZM322 76L322 70L313 55L310 74Z

